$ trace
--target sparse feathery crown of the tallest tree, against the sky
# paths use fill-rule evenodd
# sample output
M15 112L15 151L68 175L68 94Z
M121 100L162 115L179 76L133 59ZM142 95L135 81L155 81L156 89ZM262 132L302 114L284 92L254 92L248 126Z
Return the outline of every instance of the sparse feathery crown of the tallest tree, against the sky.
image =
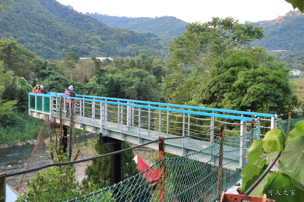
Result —
M242 50L250 41L264 37L261 26L239 24L233 18L212 18L211 22L192 23L169 46L169 65L181 70L194 67L209 70L218 58Z

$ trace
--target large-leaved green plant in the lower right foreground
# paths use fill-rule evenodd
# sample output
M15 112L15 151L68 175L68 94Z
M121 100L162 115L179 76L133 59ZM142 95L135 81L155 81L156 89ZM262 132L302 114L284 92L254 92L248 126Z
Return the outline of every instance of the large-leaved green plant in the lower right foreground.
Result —
M290 131L288 138L279 129L272 129L264 139L253 142L247 157L250 164L241 172L243 186L247 190L264 173L271 160L279 151L282 154L278 161L278 172L270 171L257 187L249 194L280 201L303 201L304 199L304 121L299 121ZM266 155L261 156L264 149Z

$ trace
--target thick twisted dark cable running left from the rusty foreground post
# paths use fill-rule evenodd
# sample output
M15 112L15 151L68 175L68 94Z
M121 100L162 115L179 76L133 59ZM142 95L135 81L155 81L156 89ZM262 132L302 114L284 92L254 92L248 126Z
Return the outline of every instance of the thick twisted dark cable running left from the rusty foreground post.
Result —
M77 161L69 161L69 162L60 162L60 163L46 164L46 165L43 165L43 166L40 166L40 167L31 168L31 169L28 169L28 170L25 170L25 171L18 171L18 172L8 173L8 174L6 174L6 177L12 177L12 176L16 176L16 175L31 173L31 172L39 171L41 169L44 169L44 168L47 168L47 167L52 167L52 166L64 166L64 165L82 163L82 162L85 162L85 161L92 161L92 160L95 160L95 159L98 159L98 158L103 158L103 157L108 157L108 156L112 156L112 155L115 155L115 154L120 154L120 153L125 152L125 151L136 149L138 147L143 147L143 146L146 146L148 144L151 144L151 143L154 143L154 142L158 142L160 140L161 139L157 139L157 140L154 140L154 141L151 141L151 142L147 142L145 144L137 145L135 147L130 147L130 148L123 149L123 150L120 150L120 151L115 151L115 152L111 152L111 153L108 153L108 154L103 154L103 155L95 156L95 157L91 157L91 158L81 159L81 160L77 160Z

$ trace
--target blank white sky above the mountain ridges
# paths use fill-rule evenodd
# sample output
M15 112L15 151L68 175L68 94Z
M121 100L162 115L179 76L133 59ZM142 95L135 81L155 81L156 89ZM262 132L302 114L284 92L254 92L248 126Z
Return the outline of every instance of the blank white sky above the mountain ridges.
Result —
M272 20L293 10L285 0L57 0L82 13L112 16L162 17L174 16L185 22L207 22L211 17L233 17L240 23Z

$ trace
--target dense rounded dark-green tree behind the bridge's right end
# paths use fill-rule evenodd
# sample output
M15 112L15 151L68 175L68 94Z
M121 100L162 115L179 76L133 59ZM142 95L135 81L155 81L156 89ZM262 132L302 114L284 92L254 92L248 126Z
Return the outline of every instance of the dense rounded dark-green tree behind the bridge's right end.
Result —
M286 113L300 105L288 72L286 63L274 59L259 65L244 53L231 54L196 88L193 101L214 108Z

